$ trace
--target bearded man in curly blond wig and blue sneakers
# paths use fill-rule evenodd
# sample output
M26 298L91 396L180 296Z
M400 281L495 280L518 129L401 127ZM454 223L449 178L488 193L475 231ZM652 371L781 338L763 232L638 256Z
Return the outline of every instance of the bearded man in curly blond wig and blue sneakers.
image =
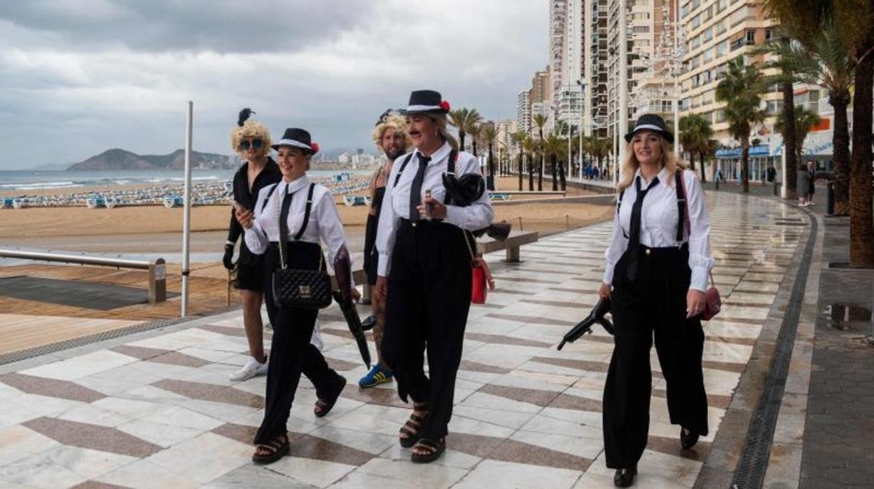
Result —
M367 227L364 231L364 271L367 274L367 283L374 287L377 283L379 253L376 249L377 228L379 225L379 213L382 212L385 198L385 185L388 176L392 173L394 161L406 153L409 147L409 137L406 136L406 120L404 117L386 111L379 118L377 126L373 129L373 142L377 148L385 153L385 164L381 165L371 181L371 210L367 214ZM375 290L373 290L375 292ZM392 369L386 365L382 355L382 340L385 333L385 299L377 294L371 294L371 307L373 315L365 319L373 325L373 343L377 348L377 364L371 368L361 380L358 386L371 388L385 382L392 381Z

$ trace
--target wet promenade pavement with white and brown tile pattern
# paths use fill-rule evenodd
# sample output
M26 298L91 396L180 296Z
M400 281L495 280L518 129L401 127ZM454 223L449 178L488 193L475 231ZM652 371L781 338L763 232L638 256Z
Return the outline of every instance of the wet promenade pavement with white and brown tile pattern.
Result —
M731 479L808 243L808 216L793 206L729 192L708 199L724 297L704 327L711 436L681 450L653 351L641 487ZM0 366L0 486L612 487L601 437L612 339L596 327L555 349L596 302L609 232L602 224L553 235L524 246L521 264L487 256L499 290L471 309L447 453L434 464L413 465L400 448L409 409L393 384L357 388L365 368L332 306L320 314L324 353L350 384L317 419L302 380L289 457L267 467L250 460L265 381L228 381L246 361L234 311ZM805 339L800 330L796 341ZM793 354L787 393L806 392L806 361ZM780 410L778 433L793 426L790 410ZM794 458L782 453L771 467L792 476ZM768 480L791 485L783 475Z

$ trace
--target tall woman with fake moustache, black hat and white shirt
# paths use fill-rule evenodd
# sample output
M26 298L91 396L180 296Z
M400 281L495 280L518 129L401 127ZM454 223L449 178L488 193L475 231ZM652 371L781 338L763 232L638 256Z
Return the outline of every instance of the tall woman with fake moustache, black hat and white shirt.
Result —
M431 462L446 448L470 309L464 231L489 226L494 215L488 192L468 206L447 199L444 172L480 172L475 157L459 152L448 133L448 111L434 90L410 95L406 133L415 150L392 166L377 231L376 293L386 298L383 357L401 399L413 398L413 415L399 435L402 446L413 447L413 462Z

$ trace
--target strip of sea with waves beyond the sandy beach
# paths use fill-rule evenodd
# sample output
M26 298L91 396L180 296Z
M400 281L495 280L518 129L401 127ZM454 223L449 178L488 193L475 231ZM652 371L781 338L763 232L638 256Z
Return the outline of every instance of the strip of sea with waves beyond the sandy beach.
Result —
M191 170L192 182L227 181L235 170ZM331 177L341 172L367 174L371 171L307 171L309 177ZM36 192L76 189L80 187L107 187L118 185L166 185L184 181L184 171L128 170L128 171L30 171L0 170L0 192Z

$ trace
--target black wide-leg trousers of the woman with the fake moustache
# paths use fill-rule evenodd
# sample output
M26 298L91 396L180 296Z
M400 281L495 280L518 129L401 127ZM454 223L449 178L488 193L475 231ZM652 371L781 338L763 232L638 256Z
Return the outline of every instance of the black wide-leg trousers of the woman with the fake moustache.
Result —
M447 435L470 309L470 252L461 228L401 220L388 277L383 355L400 398L427 402L421 437ZM427 351L428 374L424 363Z

